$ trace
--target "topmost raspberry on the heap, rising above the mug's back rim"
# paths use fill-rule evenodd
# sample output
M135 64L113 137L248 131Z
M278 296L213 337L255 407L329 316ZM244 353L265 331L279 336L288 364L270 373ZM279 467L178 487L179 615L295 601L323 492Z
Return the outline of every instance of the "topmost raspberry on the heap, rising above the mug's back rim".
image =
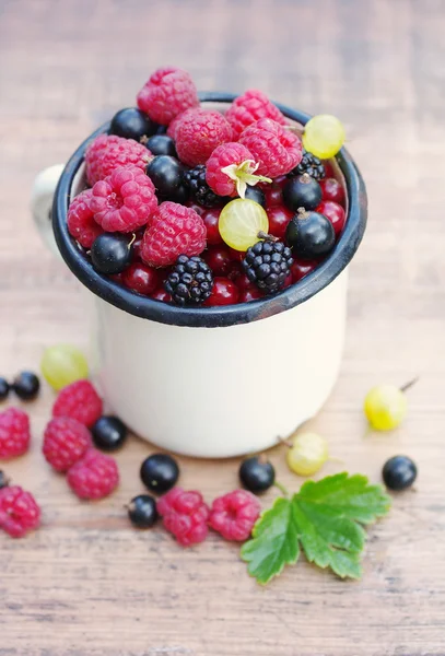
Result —
M139 109L162 126L199 103L189 73L174 67L157 69L138 93L137 101Z

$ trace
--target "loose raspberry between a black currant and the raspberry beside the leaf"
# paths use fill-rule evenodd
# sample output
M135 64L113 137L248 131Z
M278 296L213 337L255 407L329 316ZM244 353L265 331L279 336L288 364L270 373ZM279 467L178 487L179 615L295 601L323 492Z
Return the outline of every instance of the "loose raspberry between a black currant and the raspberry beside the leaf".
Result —
M163 518L164 527L183 547L197 544L207 538L209 507L200 492L173 488L159 500L157 512Z

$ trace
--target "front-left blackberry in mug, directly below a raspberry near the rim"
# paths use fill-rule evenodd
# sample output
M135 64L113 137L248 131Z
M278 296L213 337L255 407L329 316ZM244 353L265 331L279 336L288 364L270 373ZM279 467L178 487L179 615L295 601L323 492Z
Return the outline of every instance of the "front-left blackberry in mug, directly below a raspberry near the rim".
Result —
M164 286L177 305L199 305L212 293L212 271L200 257L179 255Z

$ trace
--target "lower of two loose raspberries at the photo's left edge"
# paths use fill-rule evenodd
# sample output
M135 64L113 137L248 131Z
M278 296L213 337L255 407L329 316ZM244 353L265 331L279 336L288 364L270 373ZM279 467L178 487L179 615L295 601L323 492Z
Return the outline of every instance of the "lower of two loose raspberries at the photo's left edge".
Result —
M39 522L40 508L30 492L19 485L0 490L0 528L11 538L23 538Z

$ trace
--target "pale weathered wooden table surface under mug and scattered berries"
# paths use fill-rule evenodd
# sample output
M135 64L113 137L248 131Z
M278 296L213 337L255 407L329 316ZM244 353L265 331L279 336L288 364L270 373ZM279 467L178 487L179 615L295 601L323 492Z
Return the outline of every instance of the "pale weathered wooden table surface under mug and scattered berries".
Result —
M181 550L162 529L129 527L122 505L152 450L137 438L117 456L118 492L78 502L40 454L46 388L30 407L32 453L5 468L35 493L43 527L0 535L2 656L445 654L444 32L443 0L0 1L1 374L37 368L48 344L87 341L80 289L32 225L34 176L131 105L153 69L179 65L199 89L255 85L346 122L370 224L341 376L313 425L351 472L378 481L397 453L420 470L371 528L361 582L302 558L261 588L216 537ZM363 438L365 391L414 374L402 429ZM297 489L283 450L271 459ZM179 460L184 485L209 500L236 485L237 460Z

